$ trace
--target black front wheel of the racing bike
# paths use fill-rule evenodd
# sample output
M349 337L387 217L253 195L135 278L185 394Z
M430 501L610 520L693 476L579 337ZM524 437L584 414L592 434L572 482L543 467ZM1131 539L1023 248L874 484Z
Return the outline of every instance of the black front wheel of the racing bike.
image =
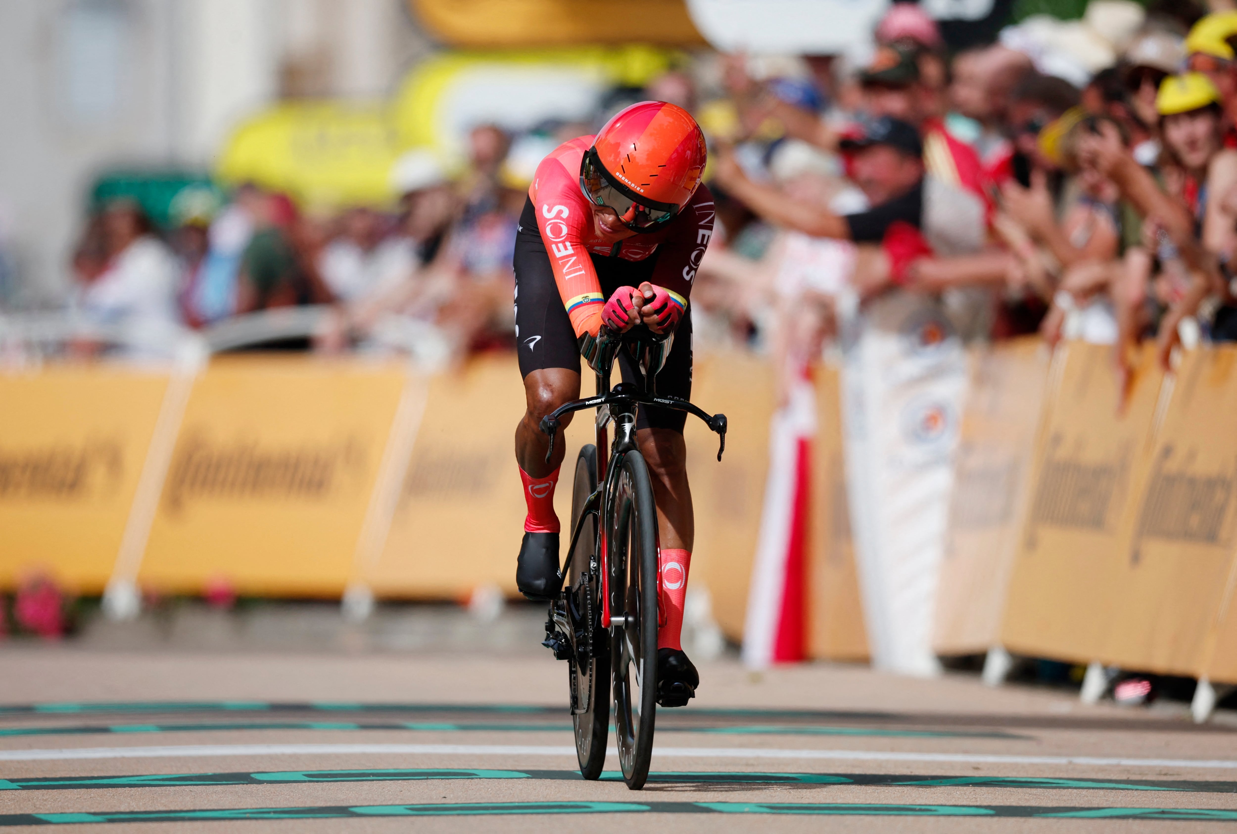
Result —
M657 710L657 513L640 452L620 463L607 536L615 733L627 787L648 778Z

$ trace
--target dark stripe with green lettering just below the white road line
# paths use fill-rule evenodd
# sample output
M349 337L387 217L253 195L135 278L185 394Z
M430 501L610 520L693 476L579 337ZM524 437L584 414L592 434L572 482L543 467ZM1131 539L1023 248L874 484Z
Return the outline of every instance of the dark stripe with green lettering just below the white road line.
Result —
M234 773L143 773L137 776L41 776L0 778L0 791L66 791L135 787L218 787L228 785L306 785L336 782L414 782L438 780L548 780L580 782L573 770L477 770L447 767L257 771ZM622 781L618 771L601 775L604 782ZM924 776L918 773L755 773L653 772L652 783L695 785L852 785L863 787L1001 787L1082 791L1170 791L1237 793L1237 782L1180 780L1072 780L1035 776Z

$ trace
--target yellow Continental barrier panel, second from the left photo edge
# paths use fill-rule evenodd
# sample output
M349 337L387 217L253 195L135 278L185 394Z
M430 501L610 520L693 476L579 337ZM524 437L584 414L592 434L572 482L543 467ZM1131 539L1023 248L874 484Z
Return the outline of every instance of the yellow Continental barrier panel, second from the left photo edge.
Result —
M341 594L406 378L361 361L213 362L189 397L140 582Z

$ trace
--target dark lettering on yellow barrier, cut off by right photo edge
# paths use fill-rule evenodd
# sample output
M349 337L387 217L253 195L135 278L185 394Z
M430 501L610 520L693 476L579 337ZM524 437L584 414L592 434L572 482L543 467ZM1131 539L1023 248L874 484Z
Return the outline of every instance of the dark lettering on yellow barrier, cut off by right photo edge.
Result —
M1134 565L1147 539L1212 545L1226 551L1232 544L1237 461L1228 472L1200 473L1194 450L1178 456L1176 461L1173 460L1175 453L1174 446L1168 444L1155 458L1134 531L1131 552Z

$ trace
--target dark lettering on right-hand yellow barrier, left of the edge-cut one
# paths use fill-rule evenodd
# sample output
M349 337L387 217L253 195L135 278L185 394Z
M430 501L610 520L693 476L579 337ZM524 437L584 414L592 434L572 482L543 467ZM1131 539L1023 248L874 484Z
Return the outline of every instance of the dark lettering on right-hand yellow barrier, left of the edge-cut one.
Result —
M1080 449L1063 452L1063 444L1060 432L1048 440L1027 525L1029 547L1035 547L1039 528L1108 529L1115 498L1126 484L1128 444L1112 460L1097 462L1084 461Z

